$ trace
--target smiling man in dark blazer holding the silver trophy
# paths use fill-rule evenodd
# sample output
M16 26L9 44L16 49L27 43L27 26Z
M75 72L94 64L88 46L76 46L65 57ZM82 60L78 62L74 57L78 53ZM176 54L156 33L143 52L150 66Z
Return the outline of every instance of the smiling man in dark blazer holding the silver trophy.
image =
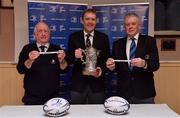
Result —
M96 11L87 9L82 15L83 30L72 33L68 42L68 63L73 64L71 100L73 104L98 104L104 102L104 69L109 56L108 36L95 30ZM94 72L83 73L83 51L88 48L99 51Z

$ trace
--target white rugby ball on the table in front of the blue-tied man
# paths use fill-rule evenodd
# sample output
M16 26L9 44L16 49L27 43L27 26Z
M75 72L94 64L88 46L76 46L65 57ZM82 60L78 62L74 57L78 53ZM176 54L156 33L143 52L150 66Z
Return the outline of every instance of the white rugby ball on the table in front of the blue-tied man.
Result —
M122 97L113 96L105 100L104 108L107 113L121 115L128 112L130 104Z

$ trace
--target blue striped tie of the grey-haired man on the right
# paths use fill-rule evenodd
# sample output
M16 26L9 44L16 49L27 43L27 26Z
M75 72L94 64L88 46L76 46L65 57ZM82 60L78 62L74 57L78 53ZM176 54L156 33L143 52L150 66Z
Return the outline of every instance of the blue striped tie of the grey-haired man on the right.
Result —
M133 59L135 57L136 54L136 43L135 43L135 39L131 38L132 42L131 42L131 46L130 46L130 52L129 52L129 59ZM130 65L129 69L132 70L133 67Z

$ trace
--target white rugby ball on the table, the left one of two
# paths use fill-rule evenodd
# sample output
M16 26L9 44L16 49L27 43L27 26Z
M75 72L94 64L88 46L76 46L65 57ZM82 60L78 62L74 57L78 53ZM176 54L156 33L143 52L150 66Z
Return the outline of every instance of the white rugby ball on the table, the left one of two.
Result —
M45 114L51 117L65 115L69 108L70 104L64 98L52 98L48 100L43 106Z

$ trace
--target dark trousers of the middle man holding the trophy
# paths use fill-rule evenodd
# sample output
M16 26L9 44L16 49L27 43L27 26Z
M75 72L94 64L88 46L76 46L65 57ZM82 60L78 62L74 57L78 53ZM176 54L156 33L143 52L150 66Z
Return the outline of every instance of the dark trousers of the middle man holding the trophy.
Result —
M90 87L87 87L84 92L71 91L72 104L103 104L104 91L92 92Z

